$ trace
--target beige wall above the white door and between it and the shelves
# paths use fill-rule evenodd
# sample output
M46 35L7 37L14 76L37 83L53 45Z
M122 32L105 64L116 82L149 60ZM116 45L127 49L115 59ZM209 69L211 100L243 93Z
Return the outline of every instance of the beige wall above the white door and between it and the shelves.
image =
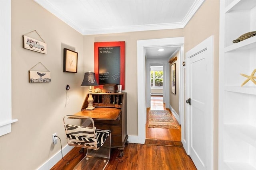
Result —
M184 53L214 35L214 169L218 169L219 0L206 0L184 28Z

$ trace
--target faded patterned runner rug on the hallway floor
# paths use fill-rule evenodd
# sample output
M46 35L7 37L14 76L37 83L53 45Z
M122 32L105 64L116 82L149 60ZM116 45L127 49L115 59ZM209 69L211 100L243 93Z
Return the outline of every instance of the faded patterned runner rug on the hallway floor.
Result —
M148 127L179 129L168 110L150 110Z

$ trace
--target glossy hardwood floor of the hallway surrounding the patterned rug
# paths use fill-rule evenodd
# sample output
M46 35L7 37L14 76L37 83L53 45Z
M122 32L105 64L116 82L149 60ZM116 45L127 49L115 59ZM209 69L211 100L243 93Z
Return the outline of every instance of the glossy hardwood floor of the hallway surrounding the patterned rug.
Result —
M146 139L164 140L164 141L181 141L181 126L175 119L170 111L174 121L179 129L164 129L164 128L149 128L148 115L149 110L169 110L165 108L163 103L163 96L151 96L150 108L147 108L147 121L146 121Z

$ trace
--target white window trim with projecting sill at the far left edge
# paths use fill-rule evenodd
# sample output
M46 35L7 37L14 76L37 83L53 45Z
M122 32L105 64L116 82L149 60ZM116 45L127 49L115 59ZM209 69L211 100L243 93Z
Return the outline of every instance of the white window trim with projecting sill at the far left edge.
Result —
M11 43L11 0L0 1L1 42L2 56L0 62L0 136L11 132L12 119L12 43Z

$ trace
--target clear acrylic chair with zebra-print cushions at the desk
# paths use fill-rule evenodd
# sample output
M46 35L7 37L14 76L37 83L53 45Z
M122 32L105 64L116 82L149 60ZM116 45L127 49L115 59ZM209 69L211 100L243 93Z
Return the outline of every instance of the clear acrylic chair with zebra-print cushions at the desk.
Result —
M74 170L104 170L110 159L110 131L94 127L90 117L66 115L63 121L68 145L86 151Z

